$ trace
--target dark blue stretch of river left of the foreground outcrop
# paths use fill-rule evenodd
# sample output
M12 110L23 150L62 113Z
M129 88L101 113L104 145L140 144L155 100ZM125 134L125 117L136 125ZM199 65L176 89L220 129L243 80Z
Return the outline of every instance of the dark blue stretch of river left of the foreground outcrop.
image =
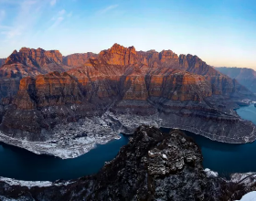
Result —
M97 145L89 153L65 160L48 155L37 155L0 143L0 176L25 181L54 181L95 174L104 162L112 160L120 148L128 143L127 135L120 136L120 140Z

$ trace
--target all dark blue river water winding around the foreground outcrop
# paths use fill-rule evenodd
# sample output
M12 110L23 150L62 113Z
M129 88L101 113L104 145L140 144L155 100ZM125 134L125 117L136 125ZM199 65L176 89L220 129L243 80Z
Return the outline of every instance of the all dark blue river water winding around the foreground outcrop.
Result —
M256 124L254 105L241 107L237 112L241 118ZM232 173L256 172L256 142L218 143L191 132L187 134L193 137L201 147L205 168L208 167L223 176L229 176ZM104 162L112 160L128 141L128 136L121 134L120 140L97 145L89 153L66 160L48 155L37 155L0 143L0 176L26 181L54 181L95 174Z

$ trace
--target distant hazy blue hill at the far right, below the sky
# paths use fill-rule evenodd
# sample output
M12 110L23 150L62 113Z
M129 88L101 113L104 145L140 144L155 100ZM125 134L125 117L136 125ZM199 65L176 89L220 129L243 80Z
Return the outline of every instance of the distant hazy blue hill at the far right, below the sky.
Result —
M251 90L253 93L256 93L256 71L253 69L245 68L227 68L219 67L216 68L221 73L229 76L232 79L237 79L240 84L245 86L247 89Z

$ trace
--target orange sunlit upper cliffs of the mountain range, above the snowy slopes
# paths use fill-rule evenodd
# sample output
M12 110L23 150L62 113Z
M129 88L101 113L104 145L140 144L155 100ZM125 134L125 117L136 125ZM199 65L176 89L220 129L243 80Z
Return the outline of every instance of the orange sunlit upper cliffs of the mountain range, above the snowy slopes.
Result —
M178 57L171 50L143 52L114 44L99 55L74 54L64 58L68 65L79 66L64 73L54 70L42 75L33 71L36 68L33 62L44 69L49 66L44 66L48 60L56 65L63 62L59 51L41 48L22 48L6 59L2 69L14 63L16 67L26 64L27 69L31 69L24 74L30 77L32 74L33 78L21 79L13 100L19 109L82 104L85 101L109 104L112 100L148 100L152 97L202 101L213 94L229 97L240 91L247 92L197 56ZM2 76L12 78L13 74L3 73Z

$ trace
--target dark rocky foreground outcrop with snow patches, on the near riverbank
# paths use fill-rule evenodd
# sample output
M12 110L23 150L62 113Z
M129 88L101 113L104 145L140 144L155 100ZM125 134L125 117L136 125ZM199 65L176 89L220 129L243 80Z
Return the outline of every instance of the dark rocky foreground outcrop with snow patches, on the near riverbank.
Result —
M255 190L255 182L226 181L204 171L202 161L200 148L183 132L141 126L98 174L55 183L1 178L0 199L227 201Z

